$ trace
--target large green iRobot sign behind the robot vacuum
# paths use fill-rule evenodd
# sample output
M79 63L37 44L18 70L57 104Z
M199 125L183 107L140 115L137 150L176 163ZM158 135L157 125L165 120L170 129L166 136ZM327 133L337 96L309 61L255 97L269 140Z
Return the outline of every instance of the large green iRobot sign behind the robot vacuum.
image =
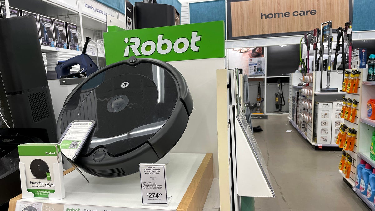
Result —
M104 33L107 65L130 56L165 62L225 57L224 21Z

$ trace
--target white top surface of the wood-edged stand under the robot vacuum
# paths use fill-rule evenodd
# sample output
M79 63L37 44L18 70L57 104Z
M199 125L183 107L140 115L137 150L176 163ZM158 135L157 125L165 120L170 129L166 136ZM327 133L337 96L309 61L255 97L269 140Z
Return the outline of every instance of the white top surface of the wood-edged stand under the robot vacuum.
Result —
M88 183L77 171L73 171L64 176L65 199L20 199L18 202L64 204L81 210L177 210L204 157L205 154L170 154L170 162L166 165L166 184L168 196L172 198L168 206L142 205L139 172L117 178L101 178L83 172L90 181Z

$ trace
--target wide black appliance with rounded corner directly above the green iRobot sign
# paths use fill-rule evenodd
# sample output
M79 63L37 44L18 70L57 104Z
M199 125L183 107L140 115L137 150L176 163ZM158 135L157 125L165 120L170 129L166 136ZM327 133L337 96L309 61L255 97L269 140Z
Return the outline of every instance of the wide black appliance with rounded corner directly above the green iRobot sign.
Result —
M152 1L134 3L135 29L180 25L180 14L174 6Z

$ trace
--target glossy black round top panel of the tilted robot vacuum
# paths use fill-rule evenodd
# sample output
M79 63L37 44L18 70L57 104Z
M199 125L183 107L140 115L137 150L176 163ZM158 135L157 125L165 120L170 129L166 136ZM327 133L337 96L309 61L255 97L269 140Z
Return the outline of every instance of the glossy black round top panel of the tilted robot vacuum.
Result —
M178 99L176 81L160 66L121 64L86 81L63 108L61 132L74 120L94 120L82 154L106 148L119 156L143 145L171 116Z

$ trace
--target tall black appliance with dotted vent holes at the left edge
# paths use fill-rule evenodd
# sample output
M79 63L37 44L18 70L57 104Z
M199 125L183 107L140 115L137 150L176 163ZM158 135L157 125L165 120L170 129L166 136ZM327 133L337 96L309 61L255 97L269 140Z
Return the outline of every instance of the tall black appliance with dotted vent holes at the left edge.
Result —
M0 46L0 127L43 128L57 143L34 16L0 19Z

